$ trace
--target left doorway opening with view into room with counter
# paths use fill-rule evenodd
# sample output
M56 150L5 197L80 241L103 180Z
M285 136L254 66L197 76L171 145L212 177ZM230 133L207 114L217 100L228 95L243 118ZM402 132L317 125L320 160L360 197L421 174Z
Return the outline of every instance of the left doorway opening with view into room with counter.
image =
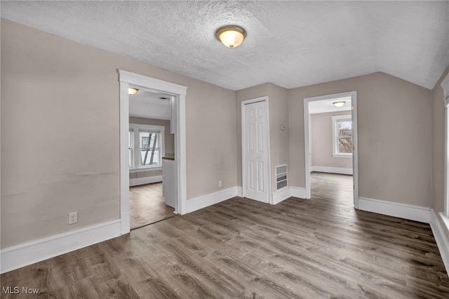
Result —
M163 173L166 157L175 157L171 132L171 95L130 85L129 175L130 230L175 216L174 198L164 194L175 182Z

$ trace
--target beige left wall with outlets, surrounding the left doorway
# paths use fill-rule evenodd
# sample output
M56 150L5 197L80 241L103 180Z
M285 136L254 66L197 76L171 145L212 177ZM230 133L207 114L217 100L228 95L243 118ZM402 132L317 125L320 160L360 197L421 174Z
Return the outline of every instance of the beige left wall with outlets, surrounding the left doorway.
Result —
M119 218L116 69L187 86L188 199L236 186L234 91L2 19L2 248Z

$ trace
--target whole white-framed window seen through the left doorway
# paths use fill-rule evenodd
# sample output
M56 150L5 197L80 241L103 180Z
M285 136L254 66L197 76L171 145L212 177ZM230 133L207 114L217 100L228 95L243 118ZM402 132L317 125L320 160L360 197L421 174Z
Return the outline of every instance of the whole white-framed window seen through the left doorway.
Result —
M165 127L140 124L129 127L129 168L161 167Z

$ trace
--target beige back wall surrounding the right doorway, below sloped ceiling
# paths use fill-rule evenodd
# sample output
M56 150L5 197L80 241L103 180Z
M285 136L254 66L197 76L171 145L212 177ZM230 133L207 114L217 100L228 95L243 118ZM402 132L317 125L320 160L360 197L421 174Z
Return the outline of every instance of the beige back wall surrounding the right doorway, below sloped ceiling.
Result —
M360 197L431 206L432 93L384 73L289 91L290 185L305 185L303 99L347 91L357 91Z

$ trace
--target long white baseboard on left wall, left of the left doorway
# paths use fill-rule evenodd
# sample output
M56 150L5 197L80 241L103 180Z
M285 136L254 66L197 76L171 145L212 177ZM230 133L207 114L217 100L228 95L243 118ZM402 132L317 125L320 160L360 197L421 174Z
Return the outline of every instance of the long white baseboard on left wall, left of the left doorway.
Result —
M4 248L0 251L0 272L3 274L120 235L120 219L117 219Z

